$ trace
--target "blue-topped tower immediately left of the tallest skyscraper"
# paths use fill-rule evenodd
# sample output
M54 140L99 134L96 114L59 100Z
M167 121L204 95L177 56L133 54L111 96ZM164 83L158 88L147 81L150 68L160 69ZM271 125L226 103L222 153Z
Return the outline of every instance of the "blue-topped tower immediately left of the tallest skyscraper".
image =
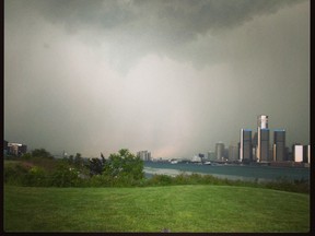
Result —
M241 129L240 161L248 162L253 160L252 130Z

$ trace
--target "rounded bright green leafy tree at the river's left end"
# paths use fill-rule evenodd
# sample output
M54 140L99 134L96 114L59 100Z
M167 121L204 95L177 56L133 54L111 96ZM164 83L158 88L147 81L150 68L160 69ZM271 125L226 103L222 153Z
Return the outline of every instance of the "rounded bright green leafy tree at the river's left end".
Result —
M140 180L144 177L143 162L139 156L130 153L128 149L121 149L118 153L109 155L109 160L105 163L103 175Z

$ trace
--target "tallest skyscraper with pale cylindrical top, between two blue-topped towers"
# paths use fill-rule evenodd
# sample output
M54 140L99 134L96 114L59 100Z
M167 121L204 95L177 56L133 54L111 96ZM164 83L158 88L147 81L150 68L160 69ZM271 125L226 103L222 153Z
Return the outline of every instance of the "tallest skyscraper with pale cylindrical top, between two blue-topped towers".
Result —
M258 116L257 138L257 161L270 161L268 116Z

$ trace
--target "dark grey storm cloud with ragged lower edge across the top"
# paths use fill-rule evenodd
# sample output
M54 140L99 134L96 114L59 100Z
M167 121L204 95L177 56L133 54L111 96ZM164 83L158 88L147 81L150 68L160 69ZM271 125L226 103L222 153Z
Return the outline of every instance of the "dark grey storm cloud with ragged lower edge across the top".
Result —
M272 14L299 2L301 1L34 0L25 1L24 4L30 4L46 21L63 26L70 34L84 32L86 42L107 44L110 55L114 55L110 63L116 63L120 71L128 71L142 56L151 52L190 61L195 67L203 66L205 59L209 62L218 61L220 56L217 44L220 42L210 38L207 45L200 47L205 44L199 44L200 37L220 34L256 16ZM191 51L196 47L191 44L196 42L198 46L195 51L197 49L198 55ZM209 52L211 55L207 55ZM124 55L124 58L117 55Z

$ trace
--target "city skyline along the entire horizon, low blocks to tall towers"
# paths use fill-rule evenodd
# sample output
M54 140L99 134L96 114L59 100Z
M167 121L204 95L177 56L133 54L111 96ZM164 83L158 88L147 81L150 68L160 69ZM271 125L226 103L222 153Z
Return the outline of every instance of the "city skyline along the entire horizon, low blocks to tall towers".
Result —
M285 145L285 130L284 129L275 129L271 130L271 132L273 132L273 139L271 140L270 138L270 129L269 123L268 123L269 117L266 115L259 115L257 117L257 131L255 133L253 133L252 129L241 129L241 137L240 137L240 142L238 142L238 149L235 145L235 143L230 143L226 148L224 142L219 141L215 142L215 146L214 146L214 152L212 150L207 151L206 153L208 153L208 158L206 160L215 160L215 161L238 161L238 162L283 162L283 161L293 161L292 156L290 157L290 160L288 160L288 155L290 153L290 155L294 155L295 152L295 148L298 146L299 149L308 149L308 156L311 157L311 150L310 150L310 144L304 143L301 144L300 142L293 142L292 143L292 151L290 151L290 146ZM261 131L267 131L267 133L265 133L264 138L259 138L261 137ZM261 151L259 151L261 148L259 145L259 143L262 140L262 142L265 142L265 154L262 154ZM266 143L267 142L267 143ZM12 142L8 142L7 140L4 140L4 150L7 150L7 148L14 145L16 146L23 146L23 153L26 153L27 150L27 145L24 144L20 144L20 143L12 143ZM304 146L304 148L303 148ZM235 150L233 151L233 149L237 149L237 151L235 152ZM38 149L38 148L37 148ZM288 149L288 151L285 151ZM271 153L270 153L271 151ZM299 150L300 151L300 150ZM289 152L289 153L287 153ZM307 151L304 150L305 153L307 153ZM60 153L58 153L56 155L56 153L54 154L55 156L61 156L65 157L65 153L66 151L62 151L62 155L59 155ZM215 155L215 157L213 158L213 156L211 158L209 158L210 153L213 153ZM237 153L237 154L236 154ZM260 153L260 154L259 154ZM13 151L14 155L18 155L18 149L15 151ZM78 153L77 153L78 154ZM81 155L81 154L80 154ZM202 155L205 157L203 153L199 153L198 156L200 157L200 155ZM261 155L261 156L260 156ZM299 155L302 155L301 153L299 153ZM306 155L306 154L305 154ZM66 157L68 156L68 154L66 153ZM101 156L103 156L103 153L101 152ZM170 158L168 156L151 156L151 152L149 152L148 150L145 151L137 151L137 156L139 156L141 160L143 161L152 161L152 160L178 160L177 158ZM182 156L179 157L180 160L194 160L196 158L196 154L194 154L194 156ZM237 157L236 157L237 156ZM90 156L92 157L92 156Z

